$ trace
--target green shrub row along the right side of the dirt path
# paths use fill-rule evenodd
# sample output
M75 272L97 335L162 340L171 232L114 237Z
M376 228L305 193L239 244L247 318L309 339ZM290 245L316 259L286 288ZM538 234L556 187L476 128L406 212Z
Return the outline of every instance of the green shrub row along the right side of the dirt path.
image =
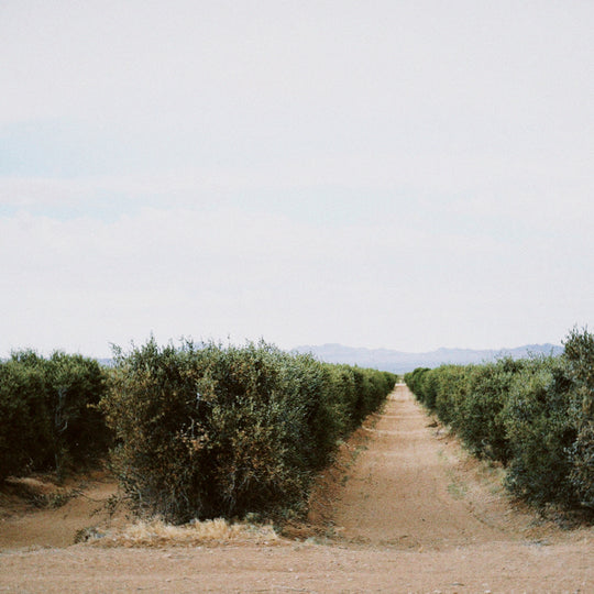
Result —
M563 355L442 365L405 375L417 398L507 486L536 504L594 513L594 337L574 330Z

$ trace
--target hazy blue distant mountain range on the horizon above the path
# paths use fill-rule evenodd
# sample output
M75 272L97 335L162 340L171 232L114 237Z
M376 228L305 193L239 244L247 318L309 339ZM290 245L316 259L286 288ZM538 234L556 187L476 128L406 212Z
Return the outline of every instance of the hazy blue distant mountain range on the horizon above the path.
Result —
M355 349L342 344L322 344L320 346L297 346L299 353L311 353L327 363L348 363L360 367L373 367L393 373L407 373L416 367L438 367L443 363L466 365L484 363L509 355L522 359L530 354L559 355L563 348L557 344L526 344L516 349L482 350L438 349L428 353L404 353L388 349Z

